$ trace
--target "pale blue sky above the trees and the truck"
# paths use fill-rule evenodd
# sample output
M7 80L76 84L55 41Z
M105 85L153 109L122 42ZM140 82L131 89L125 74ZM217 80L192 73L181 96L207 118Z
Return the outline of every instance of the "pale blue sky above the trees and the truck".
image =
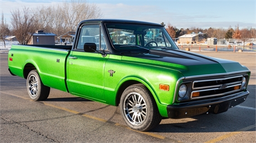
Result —
M54 5L57 1L0 0L1 13L7 23L11 11L22 6L36 8ZM256 28L256 0L87 0L96 3L104 14L102 18L132 19L154 23L170 23L176 28Z

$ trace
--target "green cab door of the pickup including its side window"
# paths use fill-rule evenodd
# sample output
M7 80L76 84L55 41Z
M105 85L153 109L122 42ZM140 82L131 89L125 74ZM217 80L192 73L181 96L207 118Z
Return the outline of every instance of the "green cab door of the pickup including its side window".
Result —
M109 55L104 57L97 52L83 50L85 43L95 43L98 51L107 50L101 26L82 25L77 36L74 49L67 59L68 90L71 94L104 103L104 67Z

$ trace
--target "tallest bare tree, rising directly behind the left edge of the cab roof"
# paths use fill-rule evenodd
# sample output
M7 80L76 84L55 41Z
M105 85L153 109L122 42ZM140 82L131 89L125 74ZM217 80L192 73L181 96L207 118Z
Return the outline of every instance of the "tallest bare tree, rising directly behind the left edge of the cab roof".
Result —
M62 10L62 13L66 14L64 19L70 31L75 31L82 20L102 17L100 9L95 4L87 3L86 0L65 1Z

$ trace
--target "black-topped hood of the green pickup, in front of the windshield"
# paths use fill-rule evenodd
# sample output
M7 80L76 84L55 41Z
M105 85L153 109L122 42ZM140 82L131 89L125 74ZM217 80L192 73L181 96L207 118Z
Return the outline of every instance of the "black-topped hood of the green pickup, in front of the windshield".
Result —
M238 62L207 57L179 49L150 49L147 53L126 53L125 55L147 59L144 61L147 64L152 64L150 60L164 62L162 64L158 63L159 66L167 66L171 69L179 70L184 76L248 71L246 67Z

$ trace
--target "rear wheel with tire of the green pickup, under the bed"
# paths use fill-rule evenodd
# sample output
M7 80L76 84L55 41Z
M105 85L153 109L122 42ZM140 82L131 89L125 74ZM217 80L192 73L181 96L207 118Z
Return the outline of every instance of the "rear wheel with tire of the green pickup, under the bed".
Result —
M27 77L27 90L30 98L42 101L48 98L50 87L43 85L37 70L31 70Z

